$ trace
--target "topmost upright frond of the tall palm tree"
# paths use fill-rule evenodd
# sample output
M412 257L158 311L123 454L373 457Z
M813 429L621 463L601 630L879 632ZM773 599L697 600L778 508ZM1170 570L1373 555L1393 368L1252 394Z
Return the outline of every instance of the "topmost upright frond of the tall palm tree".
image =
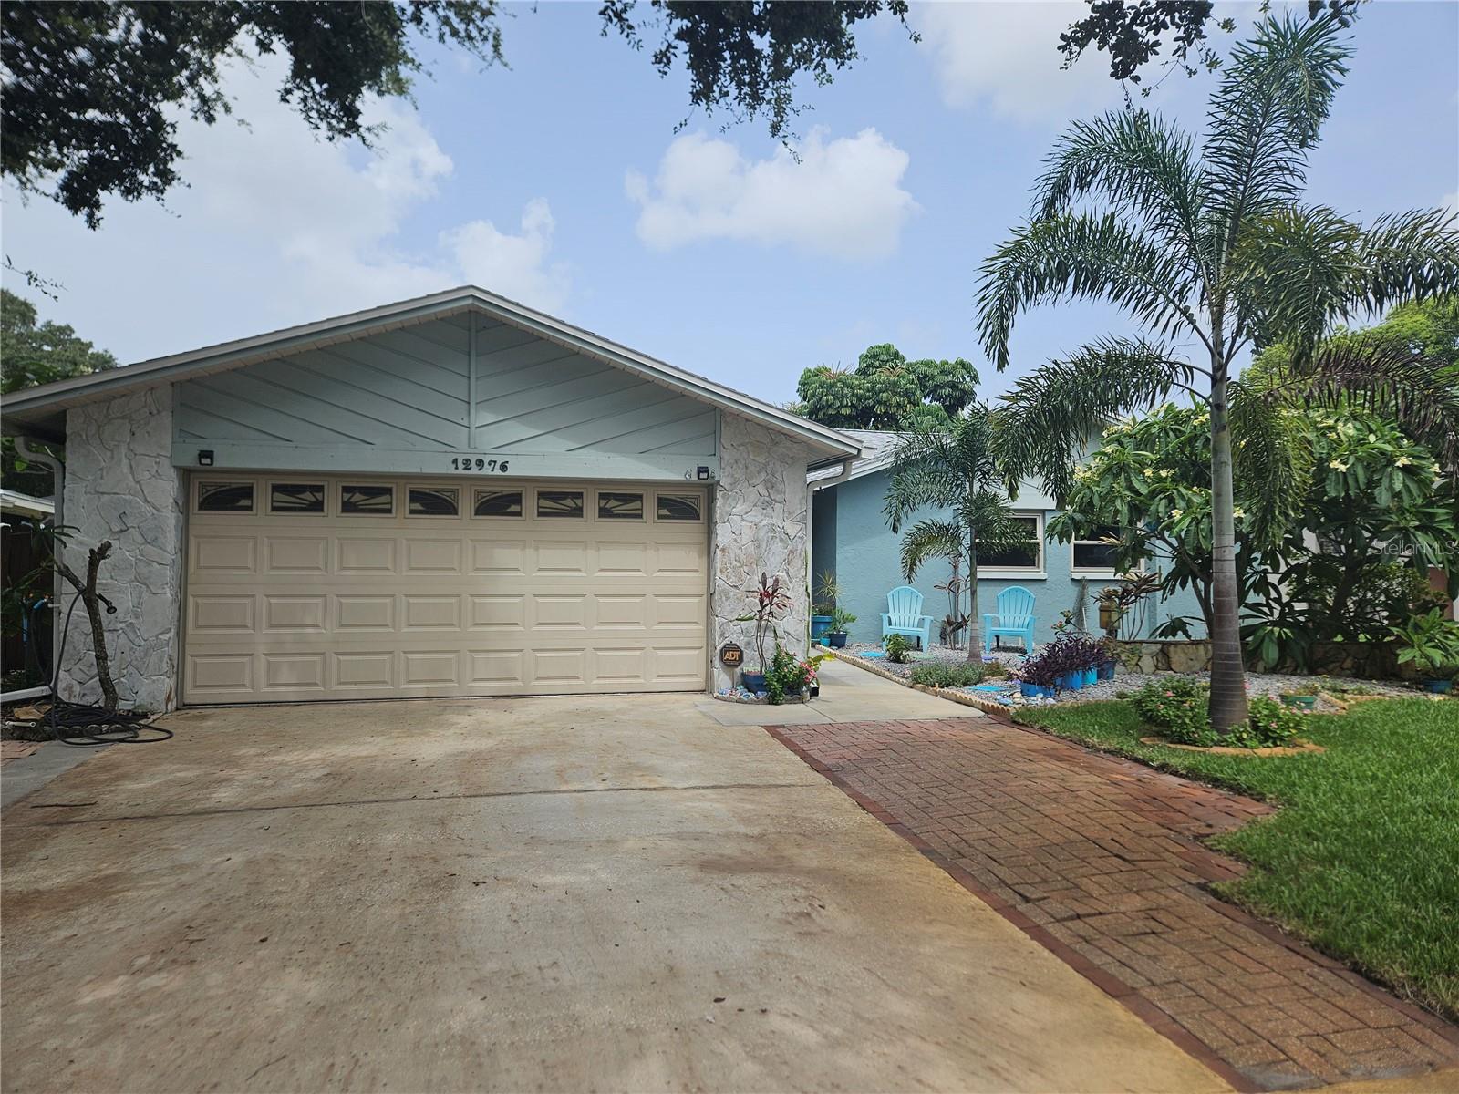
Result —
M1207 232L1223 263L1245 222L1301 198L1307 153L1347 74L1342 31L1331 16L1266 18L1223 69L1202 150Z

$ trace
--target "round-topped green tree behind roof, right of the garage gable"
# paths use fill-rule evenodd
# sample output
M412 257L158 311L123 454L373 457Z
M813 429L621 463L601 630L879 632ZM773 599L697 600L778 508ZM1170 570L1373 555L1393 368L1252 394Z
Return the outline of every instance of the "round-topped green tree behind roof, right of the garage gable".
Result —
M956 360L907 360L890 344L868 346L854 371L805 369L797 413L836 429L945 427L978 389L978 371Z

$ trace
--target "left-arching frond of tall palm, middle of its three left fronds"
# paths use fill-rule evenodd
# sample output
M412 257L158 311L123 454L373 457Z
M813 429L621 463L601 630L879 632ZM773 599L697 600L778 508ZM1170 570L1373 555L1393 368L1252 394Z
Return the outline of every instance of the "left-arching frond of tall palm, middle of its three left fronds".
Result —
M1198 282L1189 263L1129 230L1115 213L1062 214L1018 229L983 263L978 335L1002 371L1018 314L1040 303L1102 299L1158 337L1201 330L1191 309Z

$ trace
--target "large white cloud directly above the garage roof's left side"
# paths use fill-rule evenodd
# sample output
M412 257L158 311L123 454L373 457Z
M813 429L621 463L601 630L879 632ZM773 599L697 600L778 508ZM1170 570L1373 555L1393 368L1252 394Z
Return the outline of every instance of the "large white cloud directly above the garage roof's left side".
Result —
M247 127L181 124L188 185L165 207L115 201L90 232L6 188L6 254L66 286L58 303L38 300L47 318L137 360L464 282L563 306L570 273L553 258L546 198L500 210L519 216L515 229L483 217L422 230L454 165L416 112L374 102L366 121L385 127L374 147L330 143L277 101L279 64L231 73Z

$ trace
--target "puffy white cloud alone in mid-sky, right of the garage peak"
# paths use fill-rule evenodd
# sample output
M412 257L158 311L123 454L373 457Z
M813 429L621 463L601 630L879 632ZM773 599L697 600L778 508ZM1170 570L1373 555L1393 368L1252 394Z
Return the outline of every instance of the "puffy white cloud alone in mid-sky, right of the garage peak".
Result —
M743 239L836 258L891 254L918 207L902 188L907 153L872 128L829 141L816 128L797 155L750 160L702 133L676 139L652 182L627 172L639 239L661 251Z

